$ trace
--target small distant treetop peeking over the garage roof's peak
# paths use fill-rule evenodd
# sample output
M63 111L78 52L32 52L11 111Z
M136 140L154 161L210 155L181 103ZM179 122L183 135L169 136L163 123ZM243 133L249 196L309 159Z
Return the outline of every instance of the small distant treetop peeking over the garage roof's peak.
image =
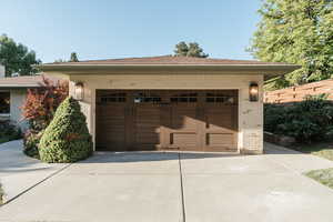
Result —
M176 57L198 57L208 58L209 54L203 52L203 49L196 42L190 42L189 44L184 41L175 44L174 53Z

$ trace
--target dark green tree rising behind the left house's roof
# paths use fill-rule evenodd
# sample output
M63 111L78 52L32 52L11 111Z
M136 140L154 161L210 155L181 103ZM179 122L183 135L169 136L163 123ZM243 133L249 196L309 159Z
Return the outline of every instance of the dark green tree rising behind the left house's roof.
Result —
M13 39L6 34L0 36L0 63L6 67L6 77L12 73L20 75L30 75L38 72L34 64L41 63L36 59L34 51L21 44L16 43Z

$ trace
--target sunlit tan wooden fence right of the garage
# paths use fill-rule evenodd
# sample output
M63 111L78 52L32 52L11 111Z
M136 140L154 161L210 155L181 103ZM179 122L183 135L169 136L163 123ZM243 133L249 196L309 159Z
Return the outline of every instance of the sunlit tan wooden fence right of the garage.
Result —
M300 102L306 95L322 93L327 94L329 100L333 100L333 79L264 92L264 103Z

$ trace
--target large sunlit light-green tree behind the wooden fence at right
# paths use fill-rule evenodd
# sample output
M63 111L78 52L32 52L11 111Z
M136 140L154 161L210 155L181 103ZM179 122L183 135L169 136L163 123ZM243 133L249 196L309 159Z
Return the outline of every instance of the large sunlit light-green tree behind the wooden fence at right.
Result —
M264 0L262 19L249 49L262 61L301 64L270 82L271 89L331 78L332 0Z

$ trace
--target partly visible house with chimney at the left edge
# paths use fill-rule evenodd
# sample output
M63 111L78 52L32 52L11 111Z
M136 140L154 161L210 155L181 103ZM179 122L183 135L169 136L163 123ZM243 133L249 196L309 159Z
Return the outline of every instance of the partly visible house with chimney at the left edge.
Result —
M4 69L0 68L0 120L10 120L24 131L27 122L22 120L20 108L26 101L28 89L40 87L42 75L4 78Z

